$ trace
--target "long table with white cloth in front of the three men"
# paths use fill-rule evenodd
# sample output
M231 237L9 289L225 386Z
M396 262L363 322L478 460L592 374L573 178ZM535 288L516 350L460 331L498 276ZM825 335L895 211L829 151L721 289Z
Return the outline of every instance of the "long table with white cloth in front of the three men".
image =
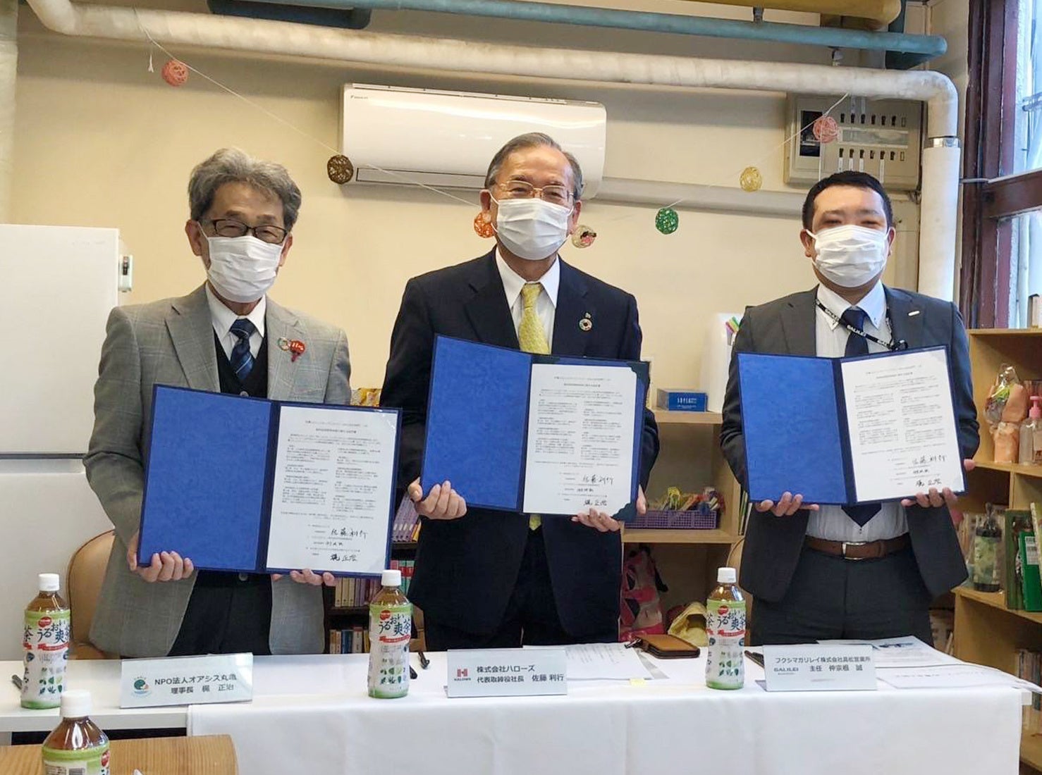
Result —
M965 690L767 694L747 662L744 689L705 688L702 659L655 660L669 678L575 682L564 697L445 697L430 654L407 697L366 695L366 657L257 657L251 703L121 710L118 662L70 662L103 728L188 725L229 733L240 771L425 775L1015 775L1019 692ZM416 661L414 657L414 662ZM17 662L0 662L8 674ZM50 729L54 710L23 710L0 691L0 731Z

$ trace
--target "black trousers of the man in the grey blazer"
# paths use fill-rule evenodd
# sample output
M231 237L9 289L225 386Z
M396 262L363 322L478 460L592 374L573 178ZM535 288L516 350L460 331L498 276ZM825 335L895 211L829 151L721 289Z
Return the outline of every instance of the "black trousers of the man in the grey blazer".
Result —
M270 654L271 576L198 573L168 656Z

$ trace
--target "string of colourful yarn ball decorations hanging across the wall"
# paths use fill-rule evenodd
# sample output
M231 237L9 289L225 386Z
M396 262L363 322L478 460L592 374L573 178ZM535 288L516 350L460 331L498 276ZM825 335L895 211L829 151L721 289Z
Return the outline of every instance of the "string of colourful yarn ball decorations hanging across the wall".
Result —
M138 11L135 9L134 10L134 15L137 16L137 14L138 14ZM166 61L166 64L163 66L163 68L162 68L162 70L159 72L163 80L166 81L168 84L170 84L171 86L174 86L174 88L183 86L189 81L189 75L190 75L190 73L195 73L196 75L200 76L201 78L203 78L203 79L209 81L210 83L213 83L218 89L221 89L222 91L228 93L232 97L235 97L239 100L245 102L250 107L252 107L252 108L254 108L256 110L259 110L260 113L263 113L264 115L266 115L268 118L273 119L274 121L277 121L278 123L282 124L283 126L287 126L290 129L292 129L293 131L295 131L298 134L302 135L303 138L306 138L307 140L312 141L313 143L316 143L317 145L321 146L325 150L330 151L332 153L332 155L329 156L329 158L326 160L326 176L332 182L334 182L334 183L337 183L339 185L343 185L344 183L350 182L351 179L354 177L354 172L355 172L355 168L357 166L358 159L355 159L354 161L352 161L346 155L344 155L343 153L341 153L338 149L332 148L331 146L329 146L328 144L322 142L318 138L315 138L315 136L308 134L307 132L305 132L304 130L300 129L296 125L290 123L289 121L287 121L282 117L278 116L275 113L272 113L268 108L264 107L263 105L257 104L253 100L250 100L248 97L245 97L244 95L235 92L234 90L230 89L229 86L226 86L224 83L221 83L216 78L213 78L209 75L207 75L206 73L203 73L199 69L193 67L192 65L189 65L183 59L177 58L176 56L174 56L174 54L172 54L169 50L167 50L158 41L156 41L154 38L152 38L151 33L148 31L148 29L146 29L145 25L142 24L140 18L138 19L138 26L141 29L142 33L145 35L145 38L148 39L148 42L149 42L149 44L152 47L154 47L156 50L163 52L166 56L170 57ZM152 49L151 48L149 49L149 54L148 54L148 72L150 72L150 73L155 72L154 68L153 68L153 64L152 64ZM810 128L812 130L813 134L814 134L814 139L817 140L821 144L828 144L828 143L834 142L839 136L839 125L836 123L836 119L834 119L830 116L830 114L847 97L849 97L849 93L844 94L842 97L840 97L840 99L838 99L830 107L828 107L828 109L826 109L821 116L819 116L818 118L816 118L810 124L807 124L805 126L802 126L802 127L799 127L798 129L796 129L795 132L793 132L792 134L790 134L788 138L786 138L784 141L782 141L782 143L779 143L778 145L776 145L775 147L773 147L763 157L761 157L754 165L749 165L749 166L745 167L739 173L739 175L738 175L739 185L741 186L742 191L745 191L745 192L748 192L748 193L753 193L753 192L760 191L760 189L764 184L764 179L763 179L763 175L761 174L758 165L762 164L765 159L767 159L770 156L772 156L779 149L784 148L788 143L792 142L795 138L799 136L807 129ZM376 165L365 164L364 166L368 167L368 168L371 168L373 170L377 170L377 171L379 171L379 172L381 172L381 173L383 173L386 175L391 175L393 177L396 177L396 178L400 179L403 184L416 185L418 188L425 189L425 190L427 190L429 192L438 194L439 196L446 197L448 199L451 199L451 200L456 201L456 202L461 202L461 203L466 204L468 206L473 205L473 202L471 202L471 201L463 199L462 197L457 197L454 194L450 194L447 191L443 191L441 189L436 189L432 185L427 185L426 183L422 183L419 180L415 180L415 179L408 177L405 174L402 174L402 173L399 173L399 172L396 172L396 171L393 171L393 170L384 170L384 169L382 169L380 167L377 167ZM719 185L719 184L710 184L710 188L715 188L716 185ZM665 205L663 207L660 207L659 210L655 213L655 217L654 217L654 227L655 227L655 229L658 229L663 234L672 234L672 233L674 233L679 228L679 226L680 226L680 217L677 214L677 211L676 211L675 208L676 208L677 205L683 204L685 201L687 201L687 200L684 199L684 198L681 198L681 199L677 199L675 202L671 202L670 204L667 204L667 205ZM621 218L613 219L613 220L629 220L629 218L632 218L632 217L634 216L623 216ZM496 233L495 226L492 224L491 218L490 218L489 214L487 211L485 211L485 210L479 211L474 217L473 228L474 228L474 232L478 236L481 236L481 238L485 238L485 239L490 239L492 236L495 236L495 233ZM594 231L592 228L590 228L589 226L587 226L585 224L579 224L578 226L576 226L575 231L572 234L571 242L572 242L572 245L574 245L576 248L588 248L591 245L593 245L593 243L594 243L594 241L596 239L597 239L597 232L596 231Z

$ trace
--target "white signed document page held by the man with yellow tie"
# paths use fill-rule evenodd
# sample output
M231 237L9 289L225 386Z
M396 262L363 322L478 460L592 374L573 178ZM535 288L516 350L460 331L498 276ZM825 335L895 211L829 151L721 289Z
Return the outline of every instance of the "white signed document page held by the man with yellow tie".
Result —
M609 515L632 501L637 374L536 364L523 511Z

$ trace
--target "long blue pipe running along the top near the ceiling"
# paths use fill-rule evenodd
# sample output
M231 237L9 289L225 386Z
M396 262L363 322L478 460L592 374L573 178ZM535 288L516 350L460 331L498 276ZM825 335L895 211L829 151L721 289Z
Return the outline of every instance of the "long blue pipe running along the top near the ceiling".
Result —
M704 35L750 41L770 41L829 48L897 51L910 55L907 67L940 56L947 51L941 35L913 35L903 32L868 32L839 27L810 27L775 22L742 22L708 19L679 14L653 14L637 10L553 5L511 0L258 0L276 5L321 8L369 8L388 10L429 10L529 22L554 22L590 27L614 27L647 32Z

